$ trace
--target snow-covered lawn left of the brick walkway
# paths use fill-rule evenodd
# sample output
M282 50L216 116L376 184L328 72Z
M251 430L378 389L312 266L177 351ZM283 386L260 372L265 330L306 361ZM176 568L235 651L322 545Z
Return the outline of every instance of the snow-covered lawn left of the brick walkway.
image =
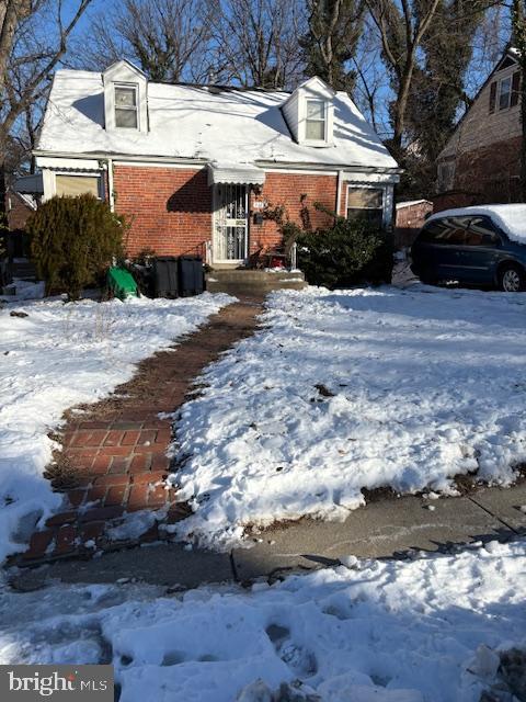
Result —
M0 309L0 562L60 505L42 477L62 412L129 380L134 364L193 331L227 295L10 304ZM11 313L25 317L12 317Z

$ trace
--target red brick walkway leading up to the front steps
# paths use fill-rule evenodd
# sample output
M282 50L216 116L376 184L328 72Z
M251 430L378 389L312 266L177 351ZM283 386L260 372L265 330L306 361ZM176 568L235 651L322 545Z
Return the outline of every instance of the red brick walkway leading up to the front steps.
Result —
M62 444L49 467L55 489L64 491L65 511L35 532L20 565L71 555L89 555L94 546L114 548L130 542L110 542L107 526L118 525L130 512L162 510L159 521L133 543L165 535L159 525L188 514L176 491L163 484L170 472L167 449L171 417L191 392L206 365L256 326L261 302L244 299L225 307L174 350L142 361L128 383L108 398L69 410L59 435ZM161 416L161 417L160 417Z

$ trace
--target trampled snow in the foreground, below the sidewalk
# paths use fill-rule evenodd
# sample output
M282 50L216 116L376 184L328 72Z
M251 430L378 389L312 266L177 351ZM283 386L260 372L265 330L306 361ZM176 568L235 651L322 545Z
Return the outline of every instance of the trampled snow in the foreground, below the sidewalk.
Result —
M492 542L171 596L5 589L0 663L113 663L121 702L479 702L501 673L514 683L499 653L525 649L525 542ZM526 686L524 656L521 671Z

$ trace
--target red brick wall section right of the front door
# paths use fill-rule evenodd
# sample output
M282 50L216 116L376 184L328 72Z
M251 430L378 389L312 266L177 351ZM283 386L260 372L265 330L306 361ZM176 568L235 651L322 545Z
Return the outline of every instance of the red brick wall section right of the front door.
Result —
M301 225L301 208L305 207L309 213L311 227L316 229L330 225L332 218L315 210L315 202L320 202L334 212L336 188L338 179L335 176L266 173L262 193L255 196L255 200L266 201L270 208L284 205L289 218L299 225ZM306 195L306 197L301 200L301 195ZM251 210L253 202L254 194L252 193ZM275 222L265 219L262 225L254 225L253 220L251 222L250 250L252 253L259 249L272 249L279 242L281 237Z

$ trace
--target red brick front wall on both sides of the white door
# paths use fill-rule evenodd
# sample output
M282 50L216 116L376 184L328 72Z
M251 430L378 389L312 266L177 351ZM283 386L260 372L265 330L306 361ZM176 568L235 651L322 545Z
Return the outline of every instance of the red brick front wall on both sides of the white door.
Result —
M115 208L132 222L128 253L153 249L160 256L204 254L204 242L211 239L213 192L206 169L115 166ZM251 192L249 220L250 251L274 248L279 234L274 222L253 223L254 199L270 206L285 205L300 224L301 195L309 210L312 228L330 224L331 218L313 208L315 202L334 211L336 177L323 174L267 173L262 193ZM343 201L343 194L342 194ZM342 210L343 212L343 210Z

